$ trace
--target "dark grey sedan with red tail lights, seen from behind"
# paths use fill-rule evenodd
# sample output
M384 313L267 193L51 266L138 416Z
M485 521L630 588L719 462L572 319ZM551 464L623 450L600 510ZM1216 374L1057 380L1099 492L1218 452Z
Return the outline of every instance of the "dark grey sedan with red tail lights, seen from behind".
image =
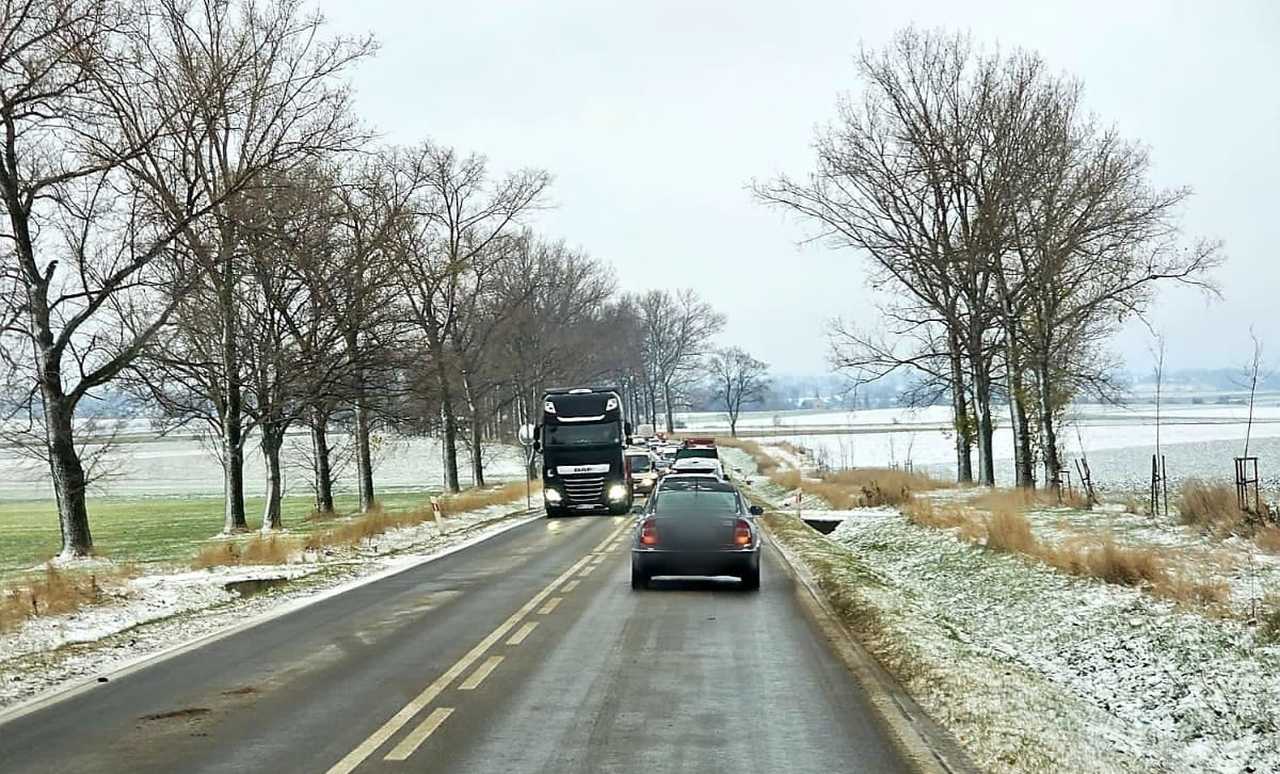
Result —
M663 478L636 525L631 587L654 576L733 576L760 587L760 533L733 485L709 477Z

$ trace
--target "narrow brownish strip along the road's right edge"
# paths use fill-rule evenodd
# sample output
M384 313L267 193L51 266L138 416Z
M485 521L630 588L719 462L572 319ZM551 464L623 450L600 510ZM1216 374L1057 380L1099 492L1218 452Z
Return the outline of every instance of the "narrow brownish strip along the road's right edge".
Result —
M960 742L940 723L929 718L897 679L863 647L845 622L832 609L817 580L804 562L786 548L763 521L758 522L769 536L769 546L782 559L781 564L795 581L795 594L809 620L826 636L836 656L854 675L872 709L890 729L895 745L918 770L927 774L977 774Z

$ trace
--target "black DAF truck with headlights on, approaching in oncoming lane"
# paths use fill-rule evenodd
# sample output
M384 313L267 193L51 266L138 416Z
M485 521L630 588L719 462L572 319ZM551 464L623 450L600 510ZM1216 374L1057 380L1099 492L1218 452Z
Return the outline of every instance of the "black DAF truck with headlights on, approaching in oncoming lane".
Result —
M631 423L613 388L547 390L535 449L543 455L547 516L631 509L631 475L622 452Z

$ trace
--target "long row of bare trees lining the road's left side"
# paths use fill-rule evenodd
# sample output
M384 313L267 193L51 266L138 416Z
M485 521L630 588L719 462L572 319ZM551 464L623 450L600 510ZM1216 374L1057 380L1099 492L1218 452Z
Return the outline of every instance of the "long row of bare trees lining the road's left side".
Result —
M212 441L227 531L250 439L276 528L303 427L325 510L335 441L362 509L380 432L439 438L445 487L460 459L483 485L547 386L617 384L671 429L723 316L534 232L544 170L379 145L347 81L374 52L300 0L0 1L4 434L49 466L64 554L92 549L110 439L77 417L104 390Z

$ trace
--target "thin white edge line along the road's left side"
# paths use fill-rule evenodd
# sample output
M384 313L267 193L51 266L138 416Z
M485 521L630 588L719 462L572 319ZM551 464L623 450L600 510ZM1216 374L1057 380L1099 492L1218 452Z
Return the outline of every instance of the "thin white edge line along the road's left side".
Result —
M347 594L348 591L360 588L361 586L367 586L370 583L385 581L387 578L398 576L402 572L408 572L411 569L422 567L424 564L435 562L436 559L443 559L458 551L479 545L486 540L498 537L499 535L509 532L511 530L515 530L517 527L522 527L525 525L540 521L541 518L543 518L541 512L536 509L513 510L504 518L498 518L488 522L488 526L481 525L480 526L481 532L479 535L467 537L466 540L457 542L454 545L445 546L433 554L425 554L424 557L421 557L420 560L413 560L404 565L390 567L384 571L379 571L372 574L365 576L362 578L355 578L344 583L339 583L338 586L334 586L332 588L325 588L324 591L320 591L315 595L308 595L298 597L296 600L289 600L288 603L284 603L279 608L266 610L264 613L260 613L259 615L255 615L253 618L242 620L241 623L215 629L206 635L201 635L200 637L191 640L188 642L178 642L157 652L147 654L145 656L137 658L136 660L125 661L119 667L111 669L110 672L102 674L95 674L93 677L87 678L82 682L74 682L68 686L54 688L52 691L46 693L38 693L36 696L32 696L31 699L19 701L18 704L10 707L0 710L0 728L4 728L5 724L13 723L14 720L24 718L35 711L42 710L49 706L54 706L69 699L74 699L76 696L79 696L81 693L84 693L91 688L96 688L104 684L104 678L105 682L109 683L110 681L128 677L136 672L142 672L148 667L154 667L163 661L168 661L169 659L174 659L192 650L197 650L206 645L218 642L219 640L223 640L225 637L230 637L233 635L238 635L241 632L251 629L256 626L261 626L264 623L275 620L276 618L283 618L291 613L296 613L311 605L332 599L334 596L339 596L342 594ZM503 523L507 519L511 521L508 523Z

